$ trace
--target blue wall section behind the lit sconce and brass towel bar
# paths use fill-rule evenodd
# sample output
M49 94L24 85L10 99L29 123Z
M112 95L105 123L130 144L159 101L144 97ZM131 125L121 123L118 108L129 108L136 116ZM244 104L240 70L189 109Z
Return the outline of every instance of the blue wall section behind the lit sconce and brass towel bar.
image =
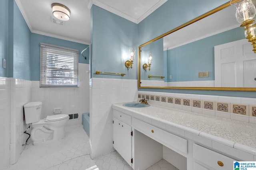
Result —
M137 79L138 27L136 23L108 12L98 6L91 8L92 77ZM130 49L136 49L133 68L124 66ZM102 72L125 73L124 77L99 74Z

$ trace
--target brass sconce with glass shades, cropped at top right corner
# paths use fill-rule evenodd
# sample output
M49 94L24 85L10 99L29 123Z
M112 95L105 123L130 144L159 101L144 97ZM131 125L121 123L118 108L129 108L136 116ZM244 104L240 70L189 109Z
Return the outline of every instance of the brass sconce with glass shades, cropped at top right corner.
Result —
M248 42L251 42L252 51L256 53L256 37L254 33L256 23L252 20L256 15L256 8L252 0L231 0L230 4L236 7L236 20L242 23L240 27L245 27L245 37L248 39Z

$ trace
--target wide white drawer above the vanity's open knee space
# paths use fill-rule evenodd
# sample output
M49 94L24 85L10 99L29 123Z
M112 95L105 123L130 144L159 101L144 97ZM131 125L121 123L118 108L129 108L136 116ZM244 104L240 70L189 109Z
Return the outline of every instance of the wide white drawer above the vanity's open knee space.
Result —
M148 137L158 141L159 143L165 145L166 147L173 149L177 152L181 151L185 154L188 152L188 141L172 133L154 127L148 123L140 121L138 119L133 119L134 129L144 133Z

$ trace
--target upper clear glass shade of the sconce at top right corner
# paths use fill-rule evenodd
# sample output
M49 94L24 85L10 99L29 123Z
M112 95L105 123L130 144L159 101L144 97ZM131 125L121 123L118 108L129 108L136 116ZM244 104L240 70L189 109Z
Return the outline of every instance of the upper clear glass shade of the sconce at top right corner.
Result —
M252 0L231 0L230 4L236 7L236 20L239 23L252 20L256 14L256 8Z

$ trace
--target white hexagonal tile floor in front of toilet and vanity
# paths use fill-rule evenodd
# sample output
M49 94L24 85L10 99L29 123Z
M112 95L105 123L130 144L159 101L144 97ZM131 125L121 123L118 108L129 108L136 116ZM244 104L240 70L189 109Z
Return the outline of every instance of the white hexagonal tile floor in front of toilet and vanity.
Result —
M70 126L65 130L64 139L44 145L26 146L18 162L11 165L9 170L132 170L116 151L92 160L89 155L89 138L82 125ZM160 160L148 170L178 169Z

